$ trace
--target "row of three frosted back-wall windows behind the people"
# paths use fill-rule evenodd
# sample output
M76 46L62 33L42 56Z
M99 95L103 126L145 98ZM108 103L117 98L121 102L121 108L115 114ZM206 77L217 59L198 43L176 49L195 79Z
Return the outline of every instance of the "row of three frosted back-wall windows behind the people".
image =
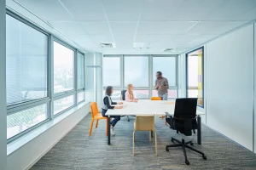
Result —
M113 99L120 99L121 90L133 84L138 99L157 96L155 73L161 71L169 82L168 99L177 98L177 55L104 55L103 94L113 86Z

